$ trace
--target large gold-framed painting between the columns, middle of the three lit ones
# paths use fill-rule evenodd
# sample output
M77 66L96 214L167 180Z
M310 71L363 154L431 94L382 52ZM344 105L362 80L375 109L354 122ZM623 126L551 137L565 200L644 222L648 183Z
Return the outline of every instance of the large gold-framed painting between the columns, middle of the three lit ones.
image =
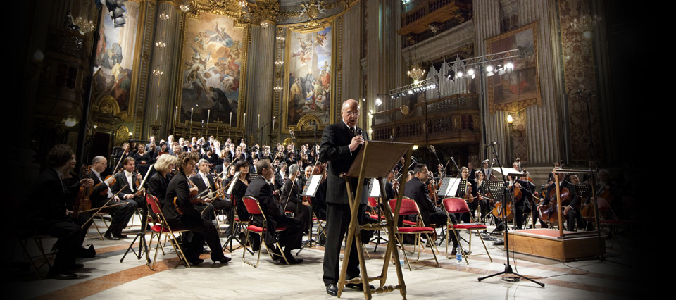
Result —
M187 15L182 46L180 123L237 127L246 48L244 29L223 15Z

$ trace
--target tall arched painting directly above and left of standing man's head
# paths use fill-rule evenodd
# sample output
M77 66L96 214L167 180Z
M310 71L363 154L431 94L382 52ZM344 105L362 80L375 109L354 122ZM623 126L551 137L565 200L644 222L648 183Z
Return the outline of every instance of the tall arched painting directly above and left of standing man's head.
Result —
M301 129L306 121L321 127L330 123L334 77L333 27L287 33L282 126Z

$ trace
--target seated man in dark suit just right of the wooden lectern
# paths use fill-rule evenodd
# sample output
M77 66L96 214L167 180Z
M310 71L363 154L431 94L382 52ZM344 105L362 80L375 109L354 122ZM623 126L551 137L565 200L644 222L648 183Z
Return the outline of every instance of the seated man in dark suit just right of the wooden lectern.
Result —
M420 209L420 217L423 218L423 223L425 226L432 227L432 225L439 227L445 227L448 225L449 218L446 216L444 209L439 208L434 205L432 199L430 199L430 191L425 185L429 171L427 170L427 165L424 163L418 163L413 168L415 175L411 180L406 182L406 189L403 192L404 196L411 198L418 204L418 209ZM450 215L450 214L449 214ZM450 215L451 222L453 224L458 223L454 215ZM453 252L452 255L456 254L456 249L458 246L458 239L455 235L451 235L451 241L453 242Z

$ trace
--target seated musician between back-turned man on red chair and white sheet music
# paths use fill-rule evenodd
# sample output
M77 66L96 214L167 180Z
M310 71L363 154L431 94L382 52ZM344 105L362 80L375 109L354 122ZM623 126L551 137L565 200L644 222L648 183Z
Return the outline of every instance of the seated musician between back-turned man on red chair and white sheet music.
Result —
M284 211L294 213L294 218L303 223L303 231L306 232L312 225L312 211L310 203L301 197L303 192L303 183L298 177L300 170L298 165L289 166L289 177L284 180L282 185L282 208Z

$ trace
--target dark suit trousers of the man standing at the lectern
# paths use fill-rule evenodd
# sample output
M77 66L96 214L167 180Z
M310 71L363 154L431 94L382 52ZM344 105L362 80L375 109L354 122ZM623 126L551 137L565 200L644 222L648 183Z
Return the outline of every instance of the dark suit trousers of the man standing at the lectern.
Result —
M365 204L359 205L359 212L357 220L359 224L364 222L364 211L366 209ZM337 284L340 278L339 275L339 257L340 257L340 248L343 244L343 239L345 237L345 232L350 225L350 220L352 218L352 213L350 211L349 204L334 204L328 203L326 210L326 228L327 237L324 251L324 285L330 283ZM356 237L356 236L355 236ZM359 258L357 251L356 240L352 241L350 258L347 262L347 274L346 279L351 279L359 276ZM344 262L343 262L344 263Z

